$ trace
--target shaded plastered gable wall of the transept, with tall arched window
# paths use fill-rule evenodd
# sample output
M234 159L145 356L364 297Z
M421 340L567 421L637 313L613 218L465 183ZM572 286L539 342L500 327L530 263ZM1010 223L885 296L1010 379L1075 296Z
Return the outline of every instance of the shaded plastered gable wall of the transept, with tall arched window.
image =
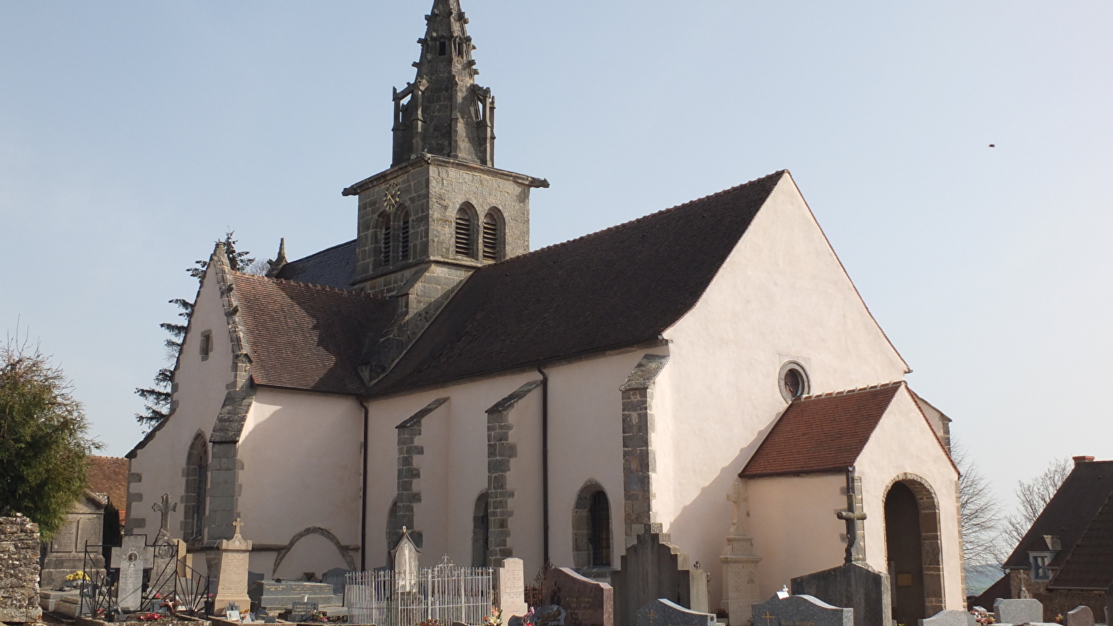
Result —
M137 535L146 534L154 538L158 532L160 517L150 507L159 501L162 493L169 493L170 502L178 502L177 510L169 517L170 535L181 538L180 522L185 506L180 500L186 489L181 470L186 467L189 444L198 432L208 442L213 424L224 403L226 387L233 379L232 340L213 272L214 270L206 272L197 292L194 313L174 374L177 385L174 400L177 409L151 440L136 450L136 456L131 459L131 472L142 476L141 482L131 483L129 488L131 498L135 495L142 496L141 501L132 502L129 507L129 521L137 518L146 521L145 527L134 530ZM200 338L205 331L211 332L213 344L208 359L203 361Z

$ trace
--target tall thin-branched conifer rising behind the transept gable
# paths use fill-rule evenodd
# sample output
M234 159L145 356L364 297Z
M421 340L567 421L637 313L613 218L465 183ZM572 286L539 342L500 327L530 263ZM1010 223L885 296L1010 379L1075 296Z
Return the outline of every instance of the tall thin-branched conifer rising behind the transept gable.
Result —
M239 242L236 241L235 236L235 231L228 231L224 235L223 243L225 253L228 255L228 264L235 272L254 270L255 260L252 258L252 253L236 250L236 244ZM193 267L186 268L186 273L200 281L207 268L208 260L195 261ZM170 333L169 339L164 342L164 345L166 346L167 361L174 363L178 360L178 354L181 352L181 342L186 338L186 329L189 326L189 317L194 314L194 305L191 302L180 297L170 300L169 303L180 310L178 316L185 320L184 324L159 324L159 327ZM160 368L158 373L155 374L155 384L152 387L137 388L136 395L142 398L146 405L144 405L142 413L136 413L136 421L144 427L154 428L165 420L170 414L170 390L173 385L174 370L170 368Z

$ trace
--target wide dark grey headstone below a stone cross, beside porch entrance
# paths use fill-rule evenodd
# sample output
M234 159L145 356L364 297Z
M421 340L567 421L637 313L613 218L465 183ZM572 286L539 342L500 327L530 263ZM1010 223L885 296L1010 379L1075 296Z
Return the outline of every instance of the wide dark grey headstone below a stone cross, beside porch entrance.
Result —
M865 563L848 563L792 578L792 594L853 608L854 626L892 626L893 623L889 576Z

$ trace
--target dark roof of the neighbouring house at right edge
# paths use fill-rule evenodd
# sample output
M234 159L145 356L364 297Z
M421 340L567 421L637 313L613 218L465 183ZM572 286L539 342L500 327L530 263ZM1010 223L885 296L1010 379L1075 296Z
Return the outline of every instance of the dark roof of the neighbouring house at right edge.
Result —
M1032 528L1005 560L1006 569L1027 569L1030 551L1047 551L1045 536L1058 538L1062 550L1048 563L1058 568L1113 492L1113 461L1077 462Z

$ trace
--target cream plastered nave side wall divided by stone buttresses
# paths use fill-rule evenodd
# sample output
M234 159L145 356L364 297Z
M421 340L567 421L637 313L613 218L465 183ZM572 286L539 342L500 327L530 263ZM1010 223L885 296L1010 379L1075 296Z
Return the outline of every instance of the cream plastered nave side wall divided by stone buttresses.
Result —
M622 554L622 398L619 387L647 352L630 351L570 364L548 366L550 560L572 566L572 512L588 481L603 486L611 505L613 563ZM538 372L480 379L410 395L368 401L371 446L367 513L368 567L385 564L386 516L397 490L396 426L437 398L450 400L422 420L415 459L422 477L415 483L421 502L415 527L423 532L422 564L447 555L470 564L475 499L487 487L486 410ZM509 477L515 497L510 521L514 556L525 560L526 577L540 569L543 554L541 500L541 400L539 387L511 409L518 458Z

